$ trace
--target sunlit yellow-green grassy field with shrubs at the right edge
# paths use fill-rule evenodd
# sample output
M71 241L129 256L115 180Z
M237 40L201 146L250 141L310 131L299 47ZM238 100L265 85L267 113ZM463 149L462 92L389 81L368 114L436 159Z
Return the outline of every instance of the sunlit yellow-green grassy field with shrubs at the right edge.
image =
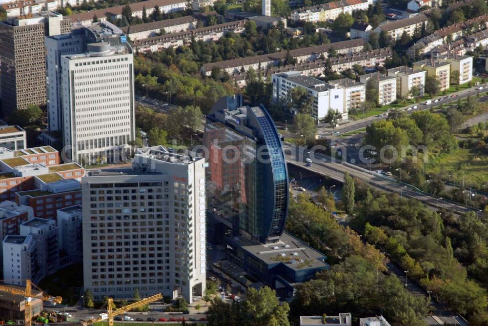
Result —
M446 172L454 176L456 183L462 183L463 173L465 185L488 183L488 157L477 155L470 149L459 148L450 154L441 154L429 158L426 174L429 172ZM450 178L452 181L452 177Z

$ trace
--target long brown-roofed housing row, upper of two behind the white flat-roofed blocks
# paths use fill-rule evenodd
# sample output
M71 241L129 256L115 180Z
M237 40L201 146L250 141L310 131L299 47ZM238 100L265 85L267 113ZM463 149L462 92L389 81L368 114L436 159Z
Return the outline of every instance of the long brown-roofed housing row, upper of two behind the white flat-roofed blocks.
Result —
M210 76L214 67L226 71L228 74L238 73L253 68L267 69L277 66L282 62L287 53L297 60L297 62L315 61L319 58L327 58L330 49L334 49L337 54L350 55L357 54L364 50L366 42L362 39L340 41L329 44L309 46L301 49L269 53L254 57L245 57L233 60L205 63L202 65L201 72L204 76Z

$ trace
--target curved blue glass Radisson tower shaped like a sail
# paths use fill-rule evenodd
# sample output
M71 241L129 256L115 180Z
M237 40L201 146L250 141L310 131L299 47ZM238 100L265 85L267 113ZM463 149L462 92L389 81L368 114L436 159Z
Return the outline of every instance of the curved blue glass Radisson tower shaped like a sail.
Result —
M288 209L283 143L264 106L243 106L242 97L220 99L207 116L207 203L212 215L262 243L278 241Z

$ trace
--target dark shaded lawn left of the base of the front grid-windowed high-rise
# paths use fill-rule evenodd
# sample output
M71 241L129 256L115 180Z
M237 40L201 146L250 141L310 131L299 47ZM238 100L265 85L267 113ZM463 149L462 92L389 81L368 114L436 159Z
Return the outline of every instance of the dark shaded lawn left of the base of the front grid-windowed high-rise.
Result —
M80 297L83 285L83 267L75 264L64 267L45 277L38 286L46 293L62 297L64 305L74 306Z

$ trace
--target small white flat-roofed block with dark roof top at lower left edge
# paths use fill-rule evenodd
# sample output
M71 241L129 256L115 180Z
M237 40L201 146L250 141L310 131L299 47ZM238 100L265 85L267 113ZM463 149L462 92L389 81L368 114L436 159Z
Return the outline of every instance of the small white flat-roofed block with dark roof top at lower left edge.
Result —
M7 235L3 239L3 279L7 284L38 281L35 241L30 235Z

